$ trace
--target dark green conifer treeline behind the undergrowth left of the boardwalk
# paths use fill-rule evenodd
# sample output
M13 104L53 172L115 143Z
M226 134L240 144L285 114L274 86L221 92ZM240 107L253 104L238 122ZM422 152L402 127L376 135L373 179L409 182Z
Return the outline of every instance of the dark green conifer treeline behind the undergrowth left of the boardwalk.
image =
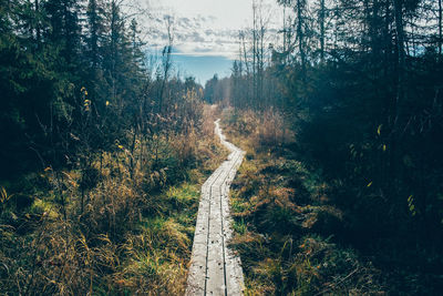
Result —
M136 139L182 129L177 118L189 108L182 98L200 95L199 85L173 76L172 44L148 63L135 20L141 11L130 17L122 11L127 7L114 0L0 3L2 176L72 164L76 152L115 150L115 141L134 146L127 132ZM172 25L166 20L165 31Z

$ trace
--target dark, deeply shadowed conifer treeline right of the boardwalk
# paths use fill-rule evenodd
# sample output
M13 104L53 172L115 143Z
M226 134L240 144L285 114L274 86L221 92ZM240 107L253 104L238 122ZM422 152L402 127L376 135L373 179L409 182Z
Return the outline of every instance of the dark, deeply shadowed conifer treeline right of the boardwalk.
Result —
M284 114L296 134L290 149L322 172L331 203L346 213L334 234L342 243L377 256L383 269L439 274L442 1L278 2L281 42L269 44L268 12L255 1L220 99Z

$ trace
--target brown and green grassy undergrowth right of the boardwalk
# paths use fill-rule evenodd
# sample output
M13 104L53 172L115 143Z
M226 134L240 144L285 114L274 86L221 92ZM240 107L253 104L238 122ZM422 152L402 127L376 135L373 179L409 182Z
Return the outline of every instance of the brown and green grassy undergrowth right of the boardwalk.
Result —
M321 172L289 149L291 133L274 131L281 124L269 112L224 114L229 141L247 151L230 193L246 295L385 294L379 271L336 239L343 213Z

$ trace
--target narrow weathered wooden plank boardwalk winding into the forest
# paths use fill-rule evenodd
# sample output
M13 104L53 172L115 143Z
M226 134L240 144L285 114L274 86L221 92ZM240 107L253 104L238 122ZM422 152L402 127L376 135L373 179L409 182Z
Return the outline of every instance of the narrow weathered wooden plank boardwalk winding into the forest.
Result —
M215 122L215 132L230 154L203 184L195 227L186 295L241 295L244 278L238 256L227 247L231 237L229 185L245 152L226 141Z

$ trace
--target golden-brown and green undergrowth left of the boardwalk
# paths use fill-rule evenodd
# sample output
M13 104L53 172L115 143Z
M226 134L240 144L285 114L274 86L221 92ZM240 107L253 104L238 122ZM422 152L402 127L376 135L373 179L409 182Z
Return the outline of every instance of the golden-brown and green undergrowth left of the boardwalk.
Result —
M184 294L199 188L226 155L215 112L186 134L116 143L82 170L2 181L0 294Z

